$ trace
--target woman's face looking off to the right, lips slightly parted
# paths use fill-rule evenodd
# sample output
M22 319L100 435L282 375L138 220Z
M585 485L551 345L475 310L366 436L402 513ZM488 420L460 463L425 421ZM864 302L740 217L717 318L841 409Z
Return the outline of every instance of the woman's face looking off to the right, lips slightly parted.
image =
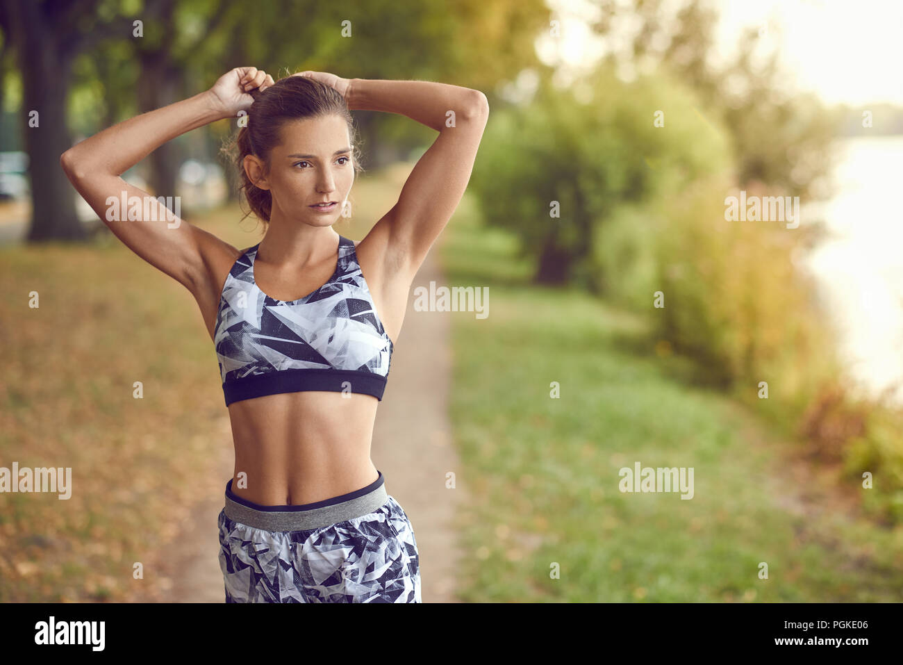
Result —
M339 219L354 183L348 122L337 115L293 120L284 124L281 135L281 144L270 152L269 173L257 181L273 197L270 219L331 225ZM248 176L253 182L260 172L251 168ZM327 211L311 208L322 201L336 204Z

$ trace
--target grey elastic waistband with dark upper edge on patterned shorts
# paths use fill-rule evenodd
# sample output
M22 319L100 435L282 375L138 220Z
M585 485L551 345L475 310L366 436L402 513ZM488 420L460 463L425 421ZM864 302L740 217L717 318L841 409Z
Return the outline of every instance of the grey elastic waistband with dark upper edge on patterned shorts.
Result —
M378 470L377 470L378 471ZM321 529L330 524L363 517L382 506L388 494L383 473L379 478L355 492L332 499L298 506L261 506L246 501L232 492L232 480L226 483L226 507L229 520L266 531L302 531Z

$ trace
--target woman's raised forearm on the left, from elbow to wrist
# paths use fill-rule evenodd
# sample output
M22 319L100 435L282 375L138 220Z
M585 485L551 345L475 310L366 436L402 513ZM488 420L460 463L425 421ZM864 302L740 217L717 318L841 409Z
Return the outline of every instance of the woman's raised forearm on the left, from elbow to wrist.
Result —
M167 141L222 117L207 90L108 127L73 145L62 162L77 174L121 175Z

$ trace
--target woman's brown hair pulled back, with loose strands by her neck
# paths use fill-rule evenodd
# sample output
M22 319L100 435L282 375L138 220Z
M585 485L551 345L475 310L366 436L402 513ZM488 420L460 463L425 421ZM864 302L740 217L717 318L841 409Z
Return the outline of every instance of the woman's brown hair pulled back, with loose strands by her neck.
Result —
M345 118L353 150L351 162L354 171L355 173L363 171L358 159L357 128L351 118L348 104L338 90L304 76L288 76L277 80L263 92L259 89L252 90L251 96L254 98L254 104L247 109L247 126L238 130L238 135L234 136L222 151L237 166L239 200L244 194L251 208L245 213L245 217L253 212L257 218L268 224L270 211L273 209L273 197L270 192L257 188L247 177L243 165L245 155L260 157L269 171L270 151L279 145L280 132L289 121L330 115ZM244 220L245 217L241 219Z

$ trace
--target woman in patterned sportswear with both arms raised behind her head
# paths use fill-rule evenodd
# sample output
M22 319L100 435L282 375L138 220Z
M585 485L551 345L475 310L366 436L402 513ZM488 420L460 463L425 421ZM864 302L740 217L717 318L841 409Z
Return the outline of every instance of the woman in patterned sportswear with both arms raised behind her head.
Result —
M331 229L358 168L349 109L439 132L358 243ZM421 602L414 529L370 441L414 274L461 200L488 114L483 93L442 83L315 71L274 82L240 67L61 156L116 237L191 291L214 342L236 456L219 513L228 603ZM247 122L237 164L266 222L251 248L161 214L120 177L221 118ZM145 201L140 219L107 214L108 197Z

